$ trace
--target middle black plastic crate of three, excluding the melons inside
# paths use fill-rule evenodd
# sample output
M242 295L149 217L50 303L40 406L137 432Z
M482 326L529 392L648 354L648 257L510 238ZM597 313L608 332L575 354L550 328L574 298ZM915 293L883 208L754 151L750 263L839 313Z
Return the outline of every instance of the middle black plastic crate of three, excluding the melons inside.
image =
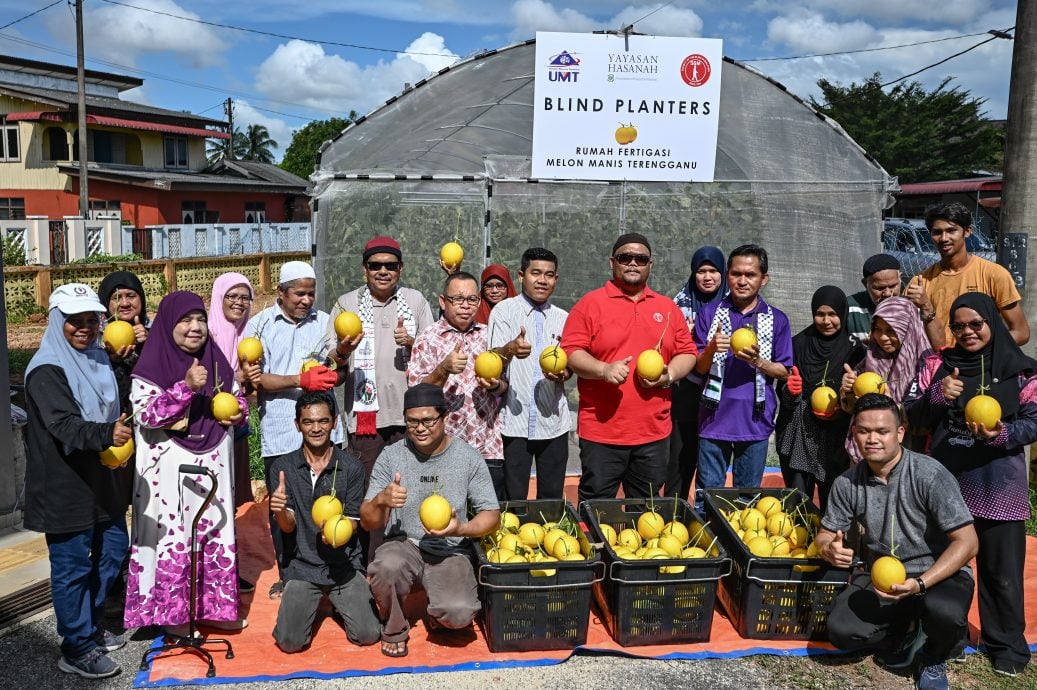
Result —
M667 522L677 520L685 527L705 524L686 501L652 499L652 503ZM648 500L643 498L589 500L581 505L591 536L604 544L606 579L594 585L594 599L606 626L623 646L708 640L717 583L731 568L727 553L718 541L719 555L712 558L620 558L605 539L601 525L610 525L617 533L627 527L637 529L638 518L648 509ZM690 531L694 536L696 532ZM706 534L712 541L714 534L708 527ZM683 565L684 571L660 570L670 565Z

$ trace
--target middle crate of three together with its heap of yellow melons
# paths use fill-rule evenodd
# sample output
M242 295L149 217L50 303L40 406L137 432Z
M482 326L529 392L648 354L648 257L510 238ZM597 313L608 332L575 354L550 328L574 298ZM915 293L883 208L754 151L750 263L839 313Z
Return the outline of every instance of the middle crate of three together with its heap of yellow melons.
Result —
M589 500L581 510L601 543L594 598L612 637L623 646L708 640L731 563L706 521L678 499Z

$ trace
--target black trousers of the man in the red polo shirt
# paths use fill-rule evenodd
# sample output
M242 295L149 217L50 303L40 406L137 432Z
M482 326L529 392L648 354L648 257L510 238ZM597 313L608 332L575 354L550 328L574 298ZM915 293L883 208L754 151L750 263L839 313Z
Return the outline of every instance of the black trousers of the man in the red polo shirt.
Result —
M615 498L620 484L627 498L658 496L666 478L670 437L642 445L615 445L580 439L580 501Z

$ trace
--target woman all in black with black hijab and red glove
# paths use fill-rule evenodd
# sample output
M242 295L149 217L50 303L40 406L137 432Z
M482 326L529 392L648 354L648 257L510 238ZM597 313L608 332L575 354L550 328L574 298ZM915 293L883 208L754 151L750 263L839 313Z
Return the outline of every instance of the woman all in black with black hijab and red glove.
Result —
M844 448L849 415L839 408L835 397L831 412L815 412L811 398L821 386L835 388L833 384L842 376L843 366L852 368L864 358L864 347L846 331L849 306L841 289L835 285L819 287L810 308L814 321L792 338L795 365L778 388L781 410L775 422L775 444L785 486L798 489L811 499L816 488L823 514L832 482L849 467Z

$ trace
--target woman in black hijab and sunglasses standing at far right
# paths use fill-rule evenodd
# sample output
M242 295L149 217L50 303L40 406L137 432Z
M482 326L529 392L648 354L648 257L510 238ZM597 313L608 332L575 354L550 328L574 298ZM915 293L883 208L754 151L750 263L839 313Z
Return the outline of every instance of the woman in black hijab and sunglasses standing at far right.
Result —
M1037 441L1037 361L1015 344L987 295L962 295L949 315L954 347L927 360L907 414L913 424L931 430L929 454L957 477L973 514L980 634L993 669L1016 675L1030 663L1022 567L1030 518L1026 446ZM1001 419L989 429L965 420L965 405L980 394L1001 406Z

